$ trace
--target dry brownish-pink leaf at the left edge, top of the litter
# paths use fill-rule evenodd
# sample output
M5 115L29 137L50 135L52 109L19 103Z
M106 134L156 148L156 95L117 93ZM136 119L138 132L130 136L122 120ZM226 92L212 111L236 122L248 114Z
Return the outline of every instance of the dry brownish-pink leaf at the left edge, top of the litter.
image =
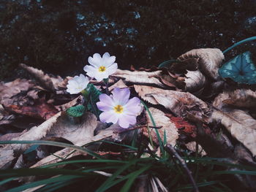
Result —
M0 82L0 104L10 105L13 104L13 97L18 93L28 91L34 87L34 83L31 80L16 79L12 82Z

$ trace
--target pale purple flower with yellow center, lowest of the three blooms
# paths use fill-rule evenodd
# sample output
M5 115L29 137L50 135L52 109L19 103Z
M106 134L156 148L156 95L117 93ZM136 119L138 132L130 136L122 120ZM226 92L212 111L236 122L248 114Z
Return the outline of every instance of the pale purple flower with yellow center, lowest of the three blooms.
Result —
M103 123L118 123L122 128L135 125L142 107L138 97L129 99L129 95L129 88L115 88L110 96L101 94L97 102L98 109L102 111L99 120Z

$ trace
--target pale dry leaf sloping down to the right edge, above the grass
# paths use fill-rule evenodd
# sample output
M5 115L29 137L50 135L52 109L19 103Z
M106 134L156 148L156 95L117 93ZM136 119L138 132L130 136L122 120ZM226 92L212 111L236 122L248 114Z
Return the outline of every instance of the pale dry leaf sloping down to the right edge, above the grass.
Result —
M222 123L233 137L256 155L256 120L248 113L243 110L214 110L211 119Z

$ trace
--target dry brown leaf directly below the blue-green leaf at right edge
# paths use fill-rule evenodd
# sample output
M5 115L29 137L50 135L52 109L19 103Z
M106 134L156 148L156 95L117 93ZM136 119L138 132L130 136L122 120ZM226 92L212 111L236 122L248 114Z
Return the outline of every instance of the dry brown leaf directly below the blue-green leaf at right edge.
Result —
M256 92L249 89L237 89L235 91L225 91L214 99L214 107L221 109L225 105L235 107L256 107Z

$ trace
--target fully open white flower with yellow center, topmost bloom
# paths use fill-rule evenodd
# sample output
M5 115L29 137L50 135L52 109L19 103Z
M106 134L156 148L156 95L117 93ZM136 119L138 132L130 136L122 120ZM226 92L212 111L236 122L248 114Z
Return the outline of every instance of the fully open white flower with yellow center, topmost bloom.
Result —
M109 53L104 53L101 57L99 53L94 53L93 57L88 58L91 65L86 65L83 70L87 72L89 77L94 77L97 81L107 79L110 74L116 72L117 64L115 56L110 56Z

